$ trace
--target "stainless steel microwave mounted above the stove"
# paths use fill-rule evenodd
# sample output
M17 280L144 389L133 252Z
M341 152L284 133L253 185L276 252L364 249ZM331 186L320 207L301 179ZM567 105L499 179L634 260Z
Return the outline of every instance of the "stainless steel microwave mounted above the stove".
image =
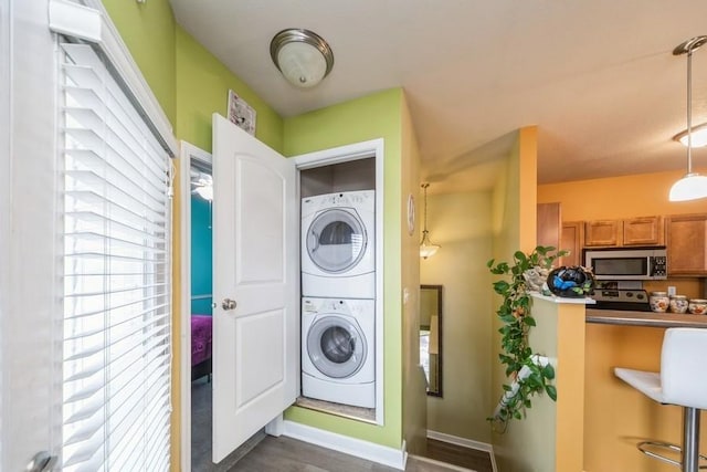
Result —
M585 249L584 266L598 281L655 281L667 279L665 248Z

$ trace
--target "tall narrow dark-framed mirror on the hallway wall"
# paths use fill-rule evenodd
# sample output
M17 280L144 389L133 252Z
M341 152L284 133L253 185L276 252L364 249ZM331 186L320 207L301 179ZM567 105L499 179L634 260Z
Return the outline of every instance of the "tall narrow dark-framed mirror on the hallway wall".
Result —
M420 285L420 364L428 395L442 397L442 285Z

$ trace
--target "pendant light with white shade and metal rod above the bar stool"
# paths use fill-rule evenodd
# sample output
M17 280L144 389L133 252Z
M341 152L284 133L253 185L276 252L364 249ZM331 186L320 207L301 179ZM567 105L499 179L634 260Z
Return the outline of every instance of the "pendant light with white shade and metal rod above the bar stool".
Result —
M671 201L707 197L707 176L693 172L693 51L707 43L707 36L695 36L673 50L673 55L687 54L687 174L673 183Z

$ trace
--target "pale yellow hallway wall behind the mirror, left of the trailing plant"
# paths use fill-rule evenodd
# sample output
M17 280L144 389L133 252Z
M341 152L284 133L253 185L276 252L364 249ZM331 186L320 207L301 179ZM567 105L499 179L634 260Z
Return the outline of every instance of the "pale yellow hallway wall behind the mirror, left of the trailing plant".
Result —
M428 206L430 237L442 248L420 260L420 283L443 285L443 398L428 398L428 430L489 443L492 195L430 195Z

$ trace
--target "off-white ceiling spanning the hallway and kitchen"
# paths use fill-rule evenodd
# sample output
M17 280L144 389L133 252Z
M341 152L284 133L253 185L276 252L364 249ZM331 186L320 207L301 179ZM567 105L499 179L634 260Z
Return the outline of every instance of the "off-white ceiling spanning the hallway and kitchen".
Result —
M283 116L403 87L423 180L486 185L513 132L537 125L540 183L684 170L683 41L705 0L170 0L179 24ZM327 40L310 90L270 57L286 28ZM224 97L225 99L225 97ZM693 55L693 123L707 122L707 46ZM707 170L707 149L693 153ZM434 192L430 187L430 192Z

